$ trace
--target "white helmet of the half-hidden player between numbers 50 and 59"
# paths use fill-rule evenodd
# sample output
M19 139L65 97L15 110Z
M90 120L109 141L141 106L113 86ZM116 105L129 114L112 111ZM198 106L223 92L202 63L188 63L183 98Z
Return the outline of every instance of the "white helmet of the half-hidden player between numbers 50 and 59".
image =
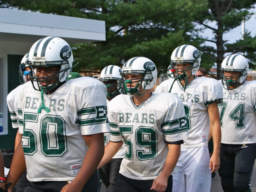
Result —
M107 87L107 95L110 98L115 97L120 93L120 75L122 69L116 65L108 65L100 73L100 81ZM116 83L112 83L111 80L115 80ZM111 82L111 83L110 83Z

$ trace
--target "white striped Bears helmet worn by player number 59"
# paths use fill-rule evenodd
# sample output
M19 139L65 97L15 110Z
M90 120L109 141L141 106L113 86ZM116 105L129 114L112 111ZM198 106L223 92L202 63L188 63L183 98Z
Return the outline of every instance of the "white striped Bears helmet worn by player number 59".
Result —
M126 80L125 75L126 74L141 74L141 78L137 78L132 80ZM141 90L141 88L145 89L151 89L156 84L157 79L157 70L156 65L151 61L150 59L146 57L133 57L132 59L129 59L124 63L124 66L122 68L121 75L123 77L123 87L124 91L130 95L139 94L138 92ZM127 84L132 82L139 82L136 87L127 86ZM141 84L141 87L139 88L139 85Z

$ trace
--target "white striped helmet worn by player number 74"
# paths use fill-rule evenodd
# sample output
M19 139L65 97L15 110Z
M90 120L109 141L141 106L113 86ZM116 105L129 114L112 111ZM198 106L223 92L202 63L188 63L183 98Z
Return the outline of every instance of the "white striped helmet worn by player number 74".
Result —
M236 85L244 83L249 70L247 59L243 55L232 54L226 57L220 67L221 83L225 89L235 89ZM238 76L225 76L225 71L241 72ZM234 80L236 79L236 80ZM229 87L232 86L233 88Z

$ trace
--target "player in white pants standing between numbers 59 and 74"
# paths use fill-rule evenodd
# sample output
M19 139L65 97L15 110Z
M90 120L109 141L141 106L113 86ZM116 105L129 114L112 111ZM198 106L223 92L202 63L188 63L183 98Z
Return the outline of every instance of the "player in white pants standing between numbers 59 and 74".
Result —
M155 92L172 92L183 101L189 138L181 144L177 163L179 172L173 175L173 191L204 191L211 189L211 170L220 166L220 118L217 103L222 102L221 84L207 77L196 77L201 56L196 47L181 45L171 55L171 78L156 87ZM170 72L169 72L170 73ZM210 129L214 150L209 156Z

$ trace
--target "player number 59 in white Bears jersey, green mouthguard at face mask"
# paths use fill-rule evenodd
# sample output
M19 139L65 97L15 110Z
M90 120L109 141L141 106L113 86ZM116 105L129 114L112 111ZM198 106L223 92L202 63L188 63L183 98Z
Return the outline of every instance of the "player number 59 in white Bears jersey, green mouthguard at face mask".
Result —
M111 136L99 167L124 143L115 191L172 191L180 144L188 138L182 101L174 94L150 92L157 70L148 58L126 61L121 75L127 95L120 94L108 104Z

